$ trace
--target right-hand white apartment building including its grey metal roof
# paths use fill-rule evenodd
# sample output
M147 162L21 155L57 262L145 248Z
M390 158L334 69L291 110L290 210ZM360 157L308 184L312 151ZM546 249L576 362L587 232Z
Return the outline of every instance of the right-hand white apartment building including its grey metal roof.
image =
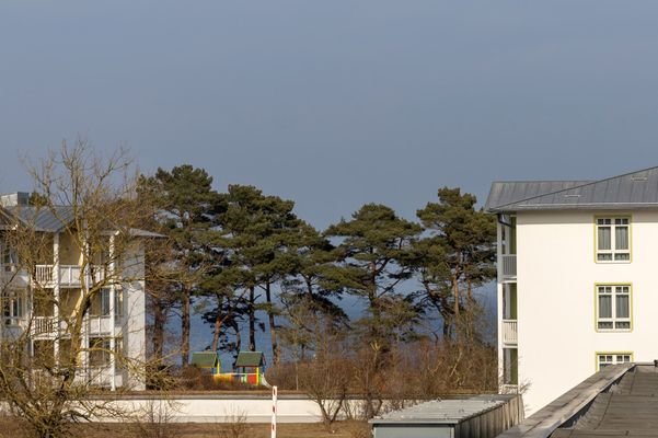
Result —
M600 367L658 359L658 168L495 182L498 364L527 414Z

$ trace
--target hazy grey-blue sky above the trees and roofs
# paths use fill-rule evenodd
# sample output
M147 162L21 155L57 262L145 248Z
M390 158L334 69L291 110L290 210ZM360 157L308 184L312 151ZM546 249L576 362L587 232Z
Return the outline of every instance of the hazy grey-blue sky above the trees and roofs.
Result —
M323 228L439 186L658 164L656 1L0 4L0 192L67 138L205 168Z

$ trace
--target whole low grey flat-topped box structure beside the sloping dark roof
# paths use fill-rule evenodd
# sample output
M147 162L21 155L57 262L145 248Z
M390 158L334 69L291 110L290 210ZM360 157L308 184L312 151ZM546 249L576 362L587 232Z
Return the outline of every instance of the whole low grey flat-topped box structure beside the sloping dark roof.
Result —
M374 438L493 438L523 419L520 395L425 402L370 420Z

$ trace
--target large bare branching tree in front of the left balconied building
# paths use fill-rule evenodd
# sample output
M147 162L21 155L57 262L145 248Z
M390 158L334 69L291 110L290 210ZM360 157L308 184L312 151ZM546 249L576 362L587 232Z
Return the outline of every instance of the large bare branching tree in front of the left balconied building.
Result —
M31 198L0 209L0 397L33 436L65 437L76 422L120 414L90 397L100 387L143 387L149 234L125 151L94 155L79 139L28 170Z

